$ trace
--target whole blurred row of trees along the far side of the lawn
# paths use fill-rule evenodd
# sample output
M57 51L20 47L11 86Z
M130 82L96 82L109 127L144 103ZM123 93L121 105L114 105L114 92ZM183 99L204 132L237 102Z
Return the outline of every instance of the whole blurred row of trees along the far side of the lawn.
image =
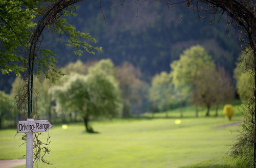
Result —
M140 68L129 62L114 67L110 59L86 63L78 60L60 68L66 75L55 84L44 76L34 78L34 117L62 123L78 121L81 119L78 118L79 115L84 117L86 114L90 114L91 119L100 116L113 117L116 116L116 112L103 113L104 110L96 110L94 106L97 103L102 105L97 105L97 108L103 109L103 105L108 102L105 101L108 96L116 103L108 102L112 106L105 110L111 111L116 104L116 111L122 117L130 117L131 114L140 114L148 110L166 111L167 117L168 111L177 107L180 107L180 117L183 117L183 107L190 103L198 108L206 106L207 115L210 106L215 105L218 116L219 104L232 100L233 87L230 75L223 67L216 68L202 46L197 45L184 50L180 60L170 66L172 71L156 74L149 86L141 79ZM15 79L11 90L12 97L18 98L18 95L24 92L23 82L20 77ZM112 91L106 92L108 88ZM99 94L101 96L98 96ZM86 103L90 105L90 113L83 114L79 106L89 106ZM84 108L87 110L87 107Z

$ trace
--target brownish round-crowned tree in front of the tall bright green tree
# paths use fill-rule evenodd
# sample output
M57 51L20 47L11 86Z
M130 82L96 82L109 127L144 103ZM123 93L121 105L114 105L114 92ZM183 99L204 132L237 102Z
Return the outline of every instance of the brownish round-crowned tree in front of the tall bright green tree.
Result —
M233 96L231 78L222 67L217 71L215 65L212 64L201 69L201 73L195 81L193 103L205 105L206 116L209 116L210 107L216 104L215 116L217 117L219 104L231 100Z

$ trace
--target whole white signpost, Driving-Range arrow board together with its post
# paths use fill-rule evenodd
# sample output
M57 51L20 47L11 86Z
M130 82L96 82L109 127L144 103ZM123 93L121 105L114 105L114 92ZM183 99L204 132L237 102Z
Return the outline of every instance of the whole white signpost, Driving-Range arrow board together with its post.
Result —
M33 167L33 133L46 132L49 131L51 127L51 123L47 120L27 119L27 121L18 121L17 133L25 132L27 134L26 168Z

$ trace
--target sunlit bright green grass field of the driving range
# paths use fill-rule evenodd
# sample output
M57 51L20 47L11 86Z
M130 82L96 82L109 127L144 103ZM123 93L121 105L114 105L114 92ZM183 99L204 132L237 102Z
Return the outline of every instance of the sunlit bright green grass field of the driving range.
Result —
M95 121L92 126L99 133L94 134L85 133L82 123L70 124L68 129L54 125L49 132L51 153L46 157L53 165L39 162L38 167L180 167L212 159L218 162L236 139L237 132L231 131L239 127L228 126L242 120L238 110L235 113L232 121L223 115L194 118L188 108L179 125L175 124L179 110L171 111L170 118L162 118L163 113L153 119L145 114L139 119ZM15 136L15 132L0 130L0 159L23 158L22 134Z

